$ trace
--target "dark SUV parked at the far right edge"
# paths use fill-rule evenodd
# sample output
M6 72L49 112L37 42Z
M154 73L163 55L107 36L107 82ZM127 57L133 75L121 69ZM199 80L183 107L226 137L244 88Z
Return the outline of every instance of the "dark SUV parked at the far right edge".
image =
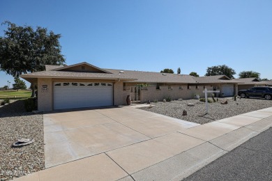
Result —
M248 90L238 91L238 95L244 97L262 97L266 100L271 100L272 87L252 87Z

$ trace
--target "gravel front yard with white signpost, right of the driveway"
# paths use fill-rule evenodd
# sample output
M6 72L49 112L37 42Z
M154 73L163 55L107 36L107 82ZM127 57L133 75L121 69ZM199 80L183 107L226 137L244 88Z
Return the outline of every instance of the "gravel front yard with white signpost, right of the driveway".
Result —
M224 100L227 100L228 104L220 103ZM195 106L188 107L188 103L193 103ZM219 98L218 102L209 103L209 114L207 115L204 115L206 113L205 102L200 102L199 100L174 100L171 102L152 102L151 104L155 106L139 109L160 113L172 118L188 120L193 123L205 124L242 113L272 107L272 100L252 98L237 99L235 102L232 98ZM182 116L183 110L187 111L187 116Z

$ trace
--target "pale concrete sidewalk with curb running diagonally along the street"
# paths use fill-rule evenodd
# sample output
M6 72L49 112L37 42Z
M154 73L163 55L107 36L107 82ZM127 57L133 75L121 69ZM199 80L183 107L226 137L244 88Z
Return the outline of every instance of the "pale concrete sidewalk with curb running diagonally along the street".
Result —
M77 159L17 180L182 180L271 126L272 108L262 109Z

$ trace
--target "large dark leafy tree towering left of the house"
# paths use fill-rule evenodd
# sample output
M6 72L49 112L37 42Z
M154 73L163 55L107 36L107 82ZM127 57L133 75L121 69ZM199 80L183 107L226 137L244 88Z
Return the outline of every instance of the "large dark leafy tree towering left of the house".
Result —
M0 70L13 77L20 74L45 70L45 65L63 65L65 59L59 44L60 34L38 26L17 26L11 22L4 36L0 37ZM2 25L3 25L2 24ZM32 95L35 85L31 83Z

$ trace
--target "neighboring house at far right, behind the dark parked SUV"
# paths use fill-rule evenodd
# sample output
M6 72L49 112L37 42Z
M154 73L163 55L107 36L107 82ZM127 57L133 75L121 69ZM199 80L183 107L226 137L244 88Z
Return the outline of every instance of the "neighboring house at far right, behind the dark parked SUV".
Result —
M238 90L246 90L256 86L272 86L272 81L259 81L259 79L252 78L243 78L243 79L234 79L236 81L240 81L238 84Z

